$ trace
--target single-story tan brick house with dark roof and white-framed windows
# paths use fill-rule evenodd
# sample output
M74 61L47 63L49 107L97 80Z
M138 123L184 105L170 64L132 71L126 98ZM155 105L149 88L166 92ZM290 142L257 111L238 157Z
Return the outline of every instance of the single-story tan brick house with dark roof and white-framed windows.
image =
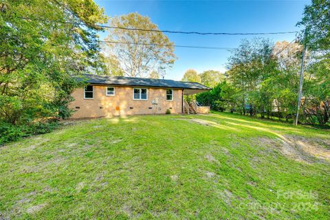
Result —
M75 100L69 107L76 110L72 118L164 114L168 109L170 113L184 113L192 107L184 101L184 95L210 90L200 83L153 78L85 74L79 80L87 86L72 93ZM202 113L206 110L204 107Z

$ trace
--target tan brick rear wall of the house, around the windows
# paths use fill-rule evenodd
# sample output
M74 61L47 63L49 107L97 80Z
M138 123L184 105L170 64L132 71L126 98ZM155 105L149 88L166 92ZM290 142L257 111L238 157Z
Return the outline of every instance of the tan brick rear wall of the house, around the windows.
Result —
M106 96L106 86L94 85L94 98L84 99L84 89L76 89L69 104L76 110L72 118L111 117L113 115L181 113L181 89L173 89L173 100L166 100L166 89L147 88L148 100L133 100L133 87L115 87L114 96ZM158 104L151 104L158 98Z

